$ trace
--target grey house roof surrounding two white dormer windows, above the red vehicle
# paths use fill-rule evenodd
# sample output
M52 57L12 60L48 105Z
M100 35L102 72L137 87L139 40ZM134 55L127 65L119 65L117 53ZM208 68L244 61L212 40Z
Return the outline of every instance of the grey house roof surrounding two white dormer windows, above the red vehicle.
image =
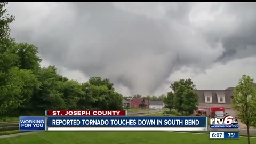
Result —
M217 94L225 95L226 104L231 104L231 95L233 95L233 91L228 90L195 90L199 101L198 103L205 103L205 95L212 95L212 104L218 103Z

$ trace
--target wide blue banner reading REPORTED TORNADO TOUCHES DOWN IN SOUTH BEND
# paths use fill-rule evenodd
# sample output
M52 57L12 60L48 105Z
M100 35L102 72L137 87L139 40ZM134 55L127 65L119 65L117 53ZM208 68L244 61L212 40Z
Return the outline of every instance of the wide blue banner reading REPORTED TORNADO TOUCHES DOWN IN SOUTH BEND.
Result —
M201 116L49 116L48 131L207 131Z

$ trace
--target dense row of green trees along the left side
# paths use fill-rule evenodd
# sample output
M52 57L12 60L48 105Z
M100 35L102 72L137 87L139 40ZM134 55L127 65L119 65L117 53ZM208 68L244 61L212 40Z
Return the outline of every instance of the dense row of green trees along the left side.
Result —
M41 67L38 48L17 43L9 25L15 20L0 3L0 116L42 115L44 110L119 110L122 95L109 79L78 83Z

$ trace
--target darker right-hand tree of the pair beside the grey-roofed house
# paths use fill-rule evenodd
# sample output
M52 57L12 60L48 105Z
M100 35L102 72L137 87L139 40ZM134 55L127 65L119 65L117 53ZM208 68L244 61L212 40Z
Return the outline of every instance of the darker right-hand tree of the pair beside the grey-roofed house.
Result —
M198 95L190 89L185 90L183 94L182 109L188 114L193 114L194 110L197 110Z

